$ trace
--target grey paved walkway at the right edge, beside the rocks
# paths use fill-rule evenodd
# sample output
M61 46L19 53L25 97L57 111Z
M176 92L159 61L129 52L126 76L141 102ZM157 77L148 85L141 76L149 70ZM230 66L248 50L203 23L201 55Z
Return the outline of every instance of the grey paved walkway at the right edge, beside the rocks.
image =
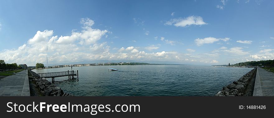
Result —
M274 96L273 72L257 68L253 96Z

